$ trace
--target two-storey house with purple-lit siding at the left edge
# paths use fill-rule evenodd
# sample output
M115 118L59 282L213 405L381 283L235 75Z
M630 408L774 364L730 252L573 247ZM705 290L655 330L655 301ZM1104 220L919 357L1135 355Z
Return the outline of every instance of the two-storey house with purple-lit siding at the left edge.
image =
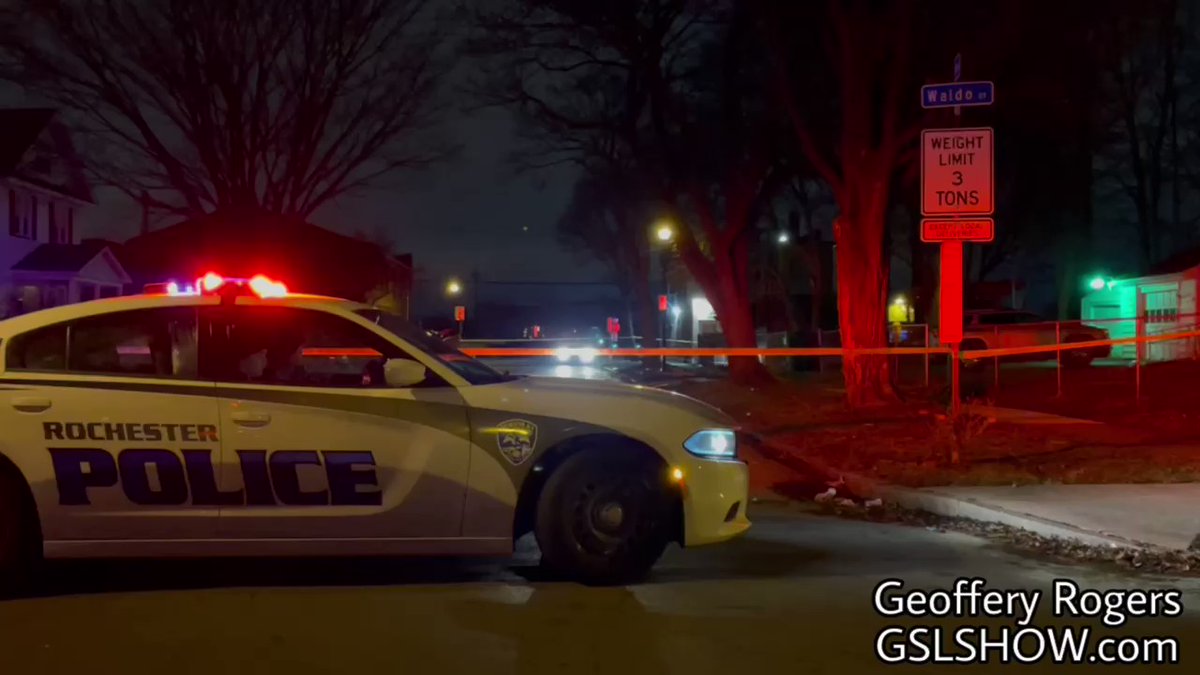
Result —
M0 318L121 294L101 241L76 243L91 189L66 127L44 108L0 109Z

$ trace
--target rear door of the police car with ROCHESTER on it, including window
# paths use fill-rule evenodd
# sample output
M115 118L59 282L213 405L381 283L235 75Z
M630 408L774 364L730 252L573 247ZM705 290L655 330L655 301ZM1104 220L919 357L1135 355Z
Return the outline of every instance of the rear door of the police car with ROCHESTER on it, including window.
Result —
M0 443L31 477L47 542L216 534L217 404L196 357L192 306L95 315L6 345Z

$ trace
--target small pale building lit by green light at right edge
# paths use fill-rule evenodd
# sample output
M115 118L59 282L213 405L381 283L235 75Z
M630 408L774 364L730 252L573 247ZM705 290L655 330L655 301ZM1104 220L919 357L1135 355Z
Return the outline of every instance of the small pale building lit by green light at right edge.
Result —
M1114 340L1138 335L1139 317L1144 335L1165 335L1195 330L1196 287L1200 283L1200 249L1164 261L1146 276L1090 280L1092 291L1081 300L1084 323L1103 328ZM1146 362L1196 358L1195 339L1148 342L1142 347ZM1114 358L1133 359L1134 345L1112 347Z

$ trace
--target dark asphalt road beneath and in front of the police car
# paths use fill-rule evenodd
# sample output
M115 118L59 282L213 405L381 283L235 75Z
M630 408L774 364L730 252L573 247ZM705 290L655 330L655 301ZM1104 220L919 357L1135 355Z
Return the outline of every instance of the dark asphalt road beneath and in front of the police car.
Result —
M541 580L528 546L514 561L59 563L46 596L0 603L0 673L953 671L964 668L877 662L888 621L871 598L886 578L947 589L965 575L1004 589L1045 590L1058 577L1182 589L1183 616L1116 633L1177 637L1184 665L1120 670L1194 673L1200 661L1195 580L1063 567L964 534L786 507L751 516L745 538L672 549L650 581L614 589ZM907 621L922 622L962 623Z

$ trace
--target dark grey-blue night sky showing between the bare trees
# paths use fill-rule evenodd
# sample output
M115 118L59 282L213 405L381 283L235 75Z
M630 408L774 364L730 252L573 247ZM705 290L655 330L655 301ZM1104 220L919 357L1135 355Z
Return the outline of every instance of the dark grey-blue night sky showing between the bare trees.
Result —
M0 92L0 106L22 104L37 102L12 90ZM554 221L575 180L572 169L516 175L508 161L516 143L515 127L504 110L454 113L444 133L460 145L454 157L346 196L318 211L313 222L347 234L374 232L392 241L396 252L412 252L424 300L418 309L432 310L445 280L466 281L473 269L485 280L605 279L600 264L564 250L554 237ZM114 190L97 190L96 201L91 213L80 217L79 237L125 240L137 234L142 216L136 204ZM520 293L526 301L538 301L546 293L538 287L497 287L485 294L496 292Z

